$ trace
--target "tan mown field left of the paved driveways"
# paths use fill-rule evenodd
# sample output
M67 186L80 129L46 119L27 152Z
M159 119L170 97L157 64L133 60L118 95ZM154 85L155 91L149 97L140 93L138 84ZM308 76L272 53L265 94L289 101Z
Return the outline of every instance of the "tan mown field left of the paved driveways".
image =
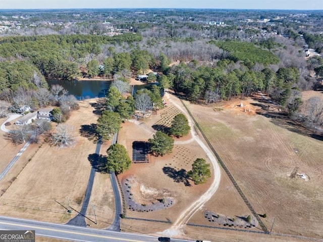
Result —
M22 156L18 162L23 163L28 160L28 154L33 154L33 157L0 198L0 203L5 204L2 206L1 214L62 223L76 215L75 212L66 213L66 210L55 200L66 207L69 200L70 206L76 210L81 207L91 169L88 156L95 153L96 143L81 136L79 130L81 125L96 122L97 116L93 115L94 108L90 105L93 102L94 100L80 102L80 109L73 111L67 121L68 125L74 127L76 142L72 147L57 148L44 143L35 154L30 148L27 149L24 153L26 157ZM101 200L101 196L113 197L112 189L107 184L108 178L109 175L99 175L94 180L95 184L100 183L100 185L95 186L90 202L97 205L97 215L102 211L101 215L107 216L113 210L110 200L107 200L106 204ZM101 182L106 187L102 193L100 193ZM88 212L91 213L90 210ZM111 221L111 215L109 216L106 221Z

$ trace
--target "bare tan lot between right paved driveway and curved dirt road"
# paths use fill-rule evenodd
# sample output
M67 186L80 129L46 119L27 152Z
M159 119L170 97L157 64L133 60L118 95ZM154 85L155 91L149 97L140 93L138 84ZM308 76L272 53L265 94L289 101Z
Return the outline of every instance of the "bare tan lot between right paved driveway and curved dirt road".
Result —
M163 119L163 114L169 113L172 120L178 111L172 105L164 110L158 111L157 115L152 115L146 120L136 122L127 122L119 133L118 143L123 144L130 157L132 157L132 143L134 141L147 141L152 137L154 130L151 128L153 124ZM165 125L165 124L164 124ZM179 140L187 140L190 136ZM121 182L125 179L134 178L137 181L135 187L131 187L131 192L138 200L138 203L149 205L153 200L157 202L159 192L164 192L168 197L175 200L172 207L165 210L154 212L134 212L127 209L127 217L155 219L163 221L175 221L178 215L193 201L195 201L209 186L208 183L203 185L194 185L190 181L191 186L185 185L185 179L182 179L181 169L188 171L196 158L203 158L208 161L207 156L195 141L187 144L175 144L172 154L164 157L154 157L149 155L149 163L132 164L130 170L119 175ZM185 171L183 171L185 173ZM144 194L145 193L145 194ZM149 194L147 194L149 193ZM166 195L165 195L166 196ZM145 198L146 200L145 200ZM127 224L130 220L123 220L123 224ZM131 221L130 221L131 223ZM133 221L132 221L133 223ZM158 228L158 224L156 224ZM170 224L169 224L170 226ZM147 231L156 231L153 227L146 228Z

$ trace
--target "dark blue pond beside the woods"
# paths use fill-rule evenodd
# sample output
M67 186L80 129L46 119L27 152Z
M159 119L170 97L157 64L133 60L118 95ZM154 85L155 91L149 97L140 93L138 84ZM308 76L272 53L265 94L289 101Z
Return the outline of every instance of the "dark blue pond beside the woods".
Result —
M103 98L105 96L111 81L67 81L67 80L47 80L49 87L59 84L74 95L78 100Z

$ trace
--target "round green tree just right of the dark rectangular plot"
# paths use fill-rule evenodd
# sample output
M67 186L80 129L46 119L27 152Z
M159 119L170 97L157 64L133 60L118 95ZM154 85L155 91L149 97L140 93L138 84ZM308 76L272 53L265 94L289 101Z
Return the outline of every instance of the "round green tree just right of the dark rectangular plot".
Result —
M153 135L153 138L149 138L150 149L157 156L164 156L170 154L174 148L174 139L168 136L166 133L157 131Z

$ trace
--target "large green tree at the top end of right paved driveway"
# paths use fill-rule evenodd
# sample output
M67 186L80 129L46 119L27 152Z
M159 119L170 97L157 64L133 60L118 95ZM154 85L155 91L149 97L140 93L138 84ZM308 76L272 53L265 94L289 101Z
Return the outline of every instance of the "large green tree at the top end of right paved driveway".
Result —
M109 140L119 131L121 125L120 115L108 110L102 112L97 119L96 132L103 140Z

